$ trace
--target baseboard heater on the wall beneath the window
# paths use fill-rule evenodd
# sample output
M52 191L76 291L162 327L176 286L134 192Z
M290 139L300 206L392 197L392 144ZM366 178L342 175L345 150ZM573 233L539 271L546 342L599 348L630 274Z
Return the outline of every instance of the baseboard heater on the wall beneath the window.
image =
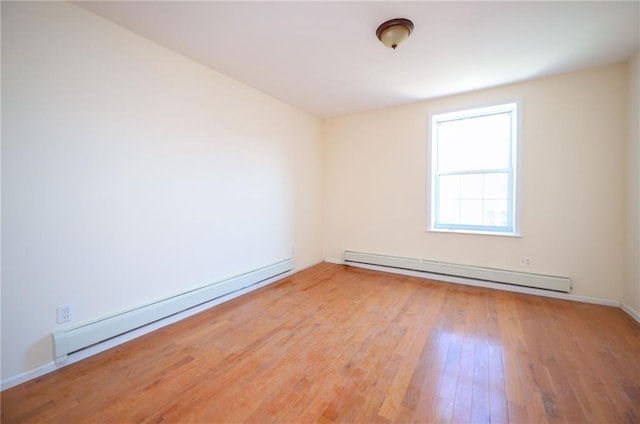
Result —
M563 293L569 293L571 291L571 279L553 275L458 265L446 262L428 261L424 259L352 252L348 250L345 250L344 252L344 261L346 264L359 263L366 265L378 265L412 271L429 272L432 274L511 284L515 286L552 290Z

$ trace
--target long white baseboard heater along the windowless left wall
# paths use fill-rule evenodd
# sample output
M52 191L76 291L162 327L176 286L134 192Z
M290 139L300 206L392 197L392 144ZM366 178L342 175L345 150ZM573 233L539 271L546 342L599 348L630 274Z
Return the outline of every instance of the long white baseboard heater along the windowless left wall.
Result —
M191 290L158 302L135 308L75 328L53 333L55 361L62 362L67 355L125 334L129 331L186 311L203 303L237 292L294 268L293 259L283 260L263 268Z

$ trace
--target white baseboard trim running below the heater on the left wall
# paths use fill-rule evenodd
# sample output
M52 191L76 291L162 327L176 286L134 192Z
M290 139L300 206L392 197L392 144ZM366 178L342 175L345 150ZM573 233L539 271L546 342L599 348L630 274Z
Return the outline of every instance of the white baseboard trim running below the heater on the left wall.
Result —
M268 286L270 284L273 284L275 282L278 282L280 280L283 280L287 277L292 276L293 274L296 274L300 271L303 271L307 268L310 268L312 266L318 265L320 263L324 262L323 260L319 260L317 262L314 262L310 265L305 265L302 267L298 267L298 268L294 268L291 271L287 271L283 274L277 275L275 277L269 278L267 280L264 280L260 283L257 283L253 286L250 287L246 287L244 289L238 290L236 292L233 293L229 293L225 296L219 297L217 299L211 300L207 303L203 303L202 305L193 307L191 309L188 309L186 311L180 312L178 314L172 315L170 317L164 318L162 320L156 321L152 324L146 325L144 327L138 328L136 330L130 331L128 333L122 334L120 336L114 337L112 339L106 340L104 342L98 343L94 346L88 347L86 349L83 349L81 351L78 351L76 353L72 353L69 354L67 356L67 359L63 362L63 363L55 363L53 361L41 365L37 368L31 369L29 371L25 371L21 374L15 375L13 377L9 377L7 379L4 379L0 382L0 391L1 390L7 390L10 389L12 387L15 387L19 384L22 383L26 383L27 381L33 380L35 378L41 377L45 374L49 374L53 371L56 371L60 368L64 368L68 365L74 364L76 362L82 361L83 359L89 358L93 355L97 355L98 353L104 352L106 350L109 350L111 348L114 348L116 346L119 346L123 343L126 343L130 340L133 340L135 338L138 338L140 336L143 336L145 334L151 333L155 330L158 330L162 327L166 327L168 325L174 324L178 321L181 321L185 318L188 318L192 315L198 314L200 312L203 312L209 308L212 308L216 305L219 305L221 303L224 302L228 302L232 299L235 299L236 297L242 296L244 294L250 293L252 291L258 290L262 287Z

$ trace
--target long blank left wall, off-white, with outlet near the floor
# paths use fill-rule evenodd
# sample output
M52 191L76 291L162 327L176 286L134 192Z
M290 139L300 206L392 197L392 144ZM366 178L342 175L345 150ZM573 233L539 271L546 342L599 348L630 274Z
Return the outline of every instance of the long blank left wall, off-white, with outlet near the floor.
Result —
M58 329L322 259L319 119L66 2L2 2L2 62L3 379Z

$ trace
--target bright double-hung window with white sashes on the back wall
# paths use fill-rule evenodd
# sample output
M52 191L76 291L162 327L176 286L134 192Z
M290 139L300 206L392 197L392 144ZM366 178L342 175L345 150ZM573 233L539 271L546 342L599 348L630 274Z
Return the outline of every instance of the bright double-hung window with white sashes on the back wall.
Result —
M516 235L517 102L431 115L429 230Z

